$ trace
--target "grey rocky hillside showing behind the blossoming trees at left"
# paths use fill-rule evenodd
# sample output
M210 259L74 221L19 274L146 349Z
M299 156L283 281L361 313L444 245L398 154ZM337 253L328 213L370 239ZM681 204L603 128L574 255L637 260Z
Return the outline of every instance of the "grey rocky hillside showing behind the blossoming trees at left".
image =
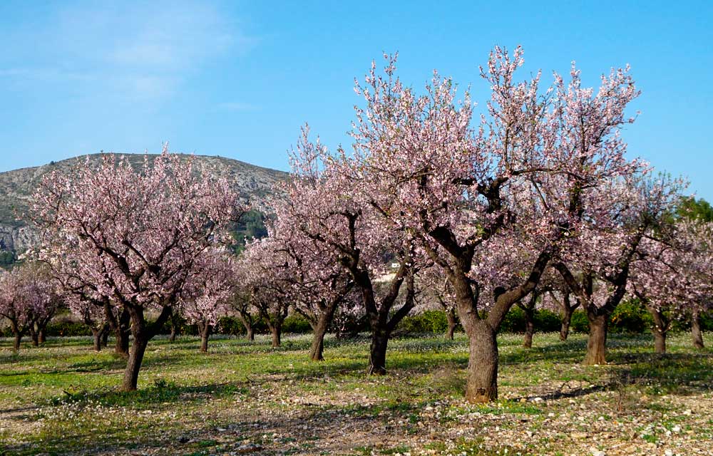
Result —
M134 167L143 165L143 154L125 154ZM153 157L149 155L149 157ZM81 157L83 159L84 157ZM100 154L89 155L90 160L98 162ZM240 195L251 201L259 201L272 192L275 184L287 178L287 173L269 168L250 165L245 162L224 157L197 155L195 170L201 175L225 177L233 182ZM46 172L57 170L71 173L78 158L61 162L51 162L39 167L22 168L0 172L0 261L9 257L9 252L22 252L36 239L36 234L24 219L17 219L16 214L24 214L31 196Z

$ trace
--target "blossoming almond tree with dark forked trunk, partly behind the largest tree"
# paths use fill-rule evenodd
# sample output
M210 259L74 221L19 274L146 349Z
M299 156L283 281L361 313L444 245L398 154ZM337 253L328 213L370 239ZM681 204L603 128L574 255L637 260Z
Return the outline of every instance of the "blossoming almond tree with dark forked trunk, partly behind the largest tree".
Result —
M382 217L364 198L364 182L354 175L355 162L329 155L319 139L312 143L308 135L304 128L292 160L296 179L285 188L281 215L319 249L331 252L329 256L351 276L370 323L368 372L383 374L391 332L415 304L414 276L422 267L422 255L411 234Z

